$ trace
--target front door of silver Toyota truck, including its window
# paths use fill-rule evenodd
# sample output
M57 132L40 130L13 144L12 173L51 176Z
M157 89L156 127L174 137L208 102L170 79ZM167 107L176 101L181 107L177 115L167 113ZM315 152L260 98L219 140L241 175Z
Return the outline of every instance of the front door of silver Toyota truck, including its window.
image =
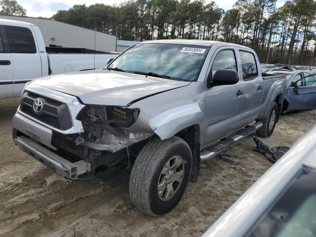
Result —
M217 70L231 69L237 71L237 59L234 48L221 47L211 60L210 77ZM207 144L233 133L240 123L238 115L242 106L242 83L235 85L214 85L206 91Z

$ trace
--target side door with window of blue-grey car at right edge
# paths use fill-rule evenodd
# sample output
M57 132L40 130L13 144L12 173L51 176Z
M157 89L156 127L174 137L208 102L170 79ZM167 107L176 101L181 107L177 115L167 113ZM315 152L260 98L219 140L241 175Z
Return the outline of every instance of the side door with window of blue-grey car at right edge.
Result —
M290 87L288 111L316 109L316 74L309 75L295 82Z

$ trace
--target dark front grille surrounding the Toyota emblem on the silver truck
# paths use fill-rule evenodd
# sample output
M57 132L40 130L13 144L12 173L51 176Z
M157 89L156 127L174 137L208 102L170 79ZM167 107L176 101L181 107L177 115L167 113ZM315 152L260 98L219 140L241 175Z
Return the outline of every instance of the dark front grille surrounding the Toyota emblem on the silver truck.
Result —
M33 110L36 99L43 102L43 108L38 113ZM28 91L22 95L22 102L20 109L25 114L60 130L72 127L72 119L66 104Z

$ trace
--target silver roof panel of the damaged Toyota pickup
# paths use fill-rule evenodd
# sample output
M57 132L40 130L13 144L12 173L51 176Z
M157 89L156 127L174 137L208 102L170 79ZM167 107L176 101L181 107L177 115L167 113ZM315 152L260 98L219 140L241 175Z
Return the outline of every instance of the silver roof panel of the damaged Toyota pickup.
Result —
M227 43L227 42L215 41L215 40L151 40L151 41L144 41L141 43L177 43L177 44L200 45L200 46L206 46L206 47L211 47L214 44L221 44L222 46L235 46L235 47L250 49L249 47L246 47L240 44Z

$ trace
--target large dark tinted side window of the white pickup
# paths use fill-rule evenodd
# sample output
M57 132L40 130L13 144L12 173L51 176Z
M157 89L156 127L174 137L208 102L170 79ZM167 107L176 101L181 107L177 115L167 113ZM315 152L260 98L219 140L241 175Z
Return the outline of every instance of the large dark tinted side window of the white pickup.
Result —
M35 41L30 29L4 26L11 53L36 53Z

